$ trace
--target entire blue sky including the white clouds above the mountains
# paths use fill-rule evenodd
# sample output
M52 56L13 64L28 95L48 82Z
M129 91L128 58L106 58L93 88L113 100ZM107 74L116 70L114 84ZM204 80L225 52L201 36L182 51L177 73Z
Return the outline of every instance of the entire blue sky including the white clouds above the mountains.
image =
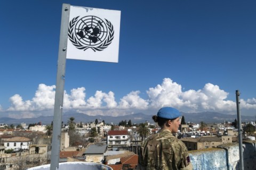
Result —
M256 115L255 1L1 1L0 117L53 115L62 3L121 11L119 62L67 60L63 112Z

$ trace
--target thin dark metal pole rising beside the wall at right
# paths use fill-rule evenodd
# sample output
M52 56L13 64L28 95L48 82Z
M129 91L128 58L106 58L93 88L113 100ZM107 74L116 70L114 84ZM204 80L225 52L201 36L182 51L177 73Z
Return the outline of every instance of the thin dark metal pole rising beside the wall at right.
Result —
M240 157L240 169L244 169L244 157L243 157L243 139L242 139L242 128L241 128L241 115L239 108L239 90L236 90L236 109L237 109L237 120L238 120L238 138L239 138L239 157Z

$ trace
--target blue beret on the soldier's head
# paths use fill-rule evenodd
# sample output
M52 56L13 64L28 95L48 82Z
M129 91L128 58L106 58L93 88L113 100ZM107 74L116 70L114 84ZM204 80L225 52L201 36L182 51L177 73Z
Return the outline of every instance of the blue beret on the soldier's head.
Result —
M166 119L174 119L180 116L180 112L173 107L163 107L157 112L157 117L162 117Z

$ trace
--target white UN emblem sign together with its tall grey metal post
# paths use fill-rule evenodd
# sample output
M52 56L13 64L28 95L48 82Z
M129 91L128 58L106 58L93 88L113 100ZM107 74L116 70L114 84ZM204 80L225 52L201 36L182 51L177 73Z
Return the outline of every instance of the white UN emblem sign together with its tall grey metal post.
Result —
M62 5L51 170L59 169L66 59L118 63L121 11Z

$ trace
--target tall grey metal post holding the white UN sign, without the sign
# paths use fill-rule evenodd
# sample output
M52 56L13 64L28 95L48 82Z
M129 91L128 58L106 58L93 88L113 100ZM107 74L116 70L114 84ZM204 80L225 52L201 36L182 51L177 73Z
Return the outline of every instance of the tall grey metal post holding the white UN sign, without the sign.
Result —
M70 12L70 4L62 4L58 71L57 71L54 116L53 116L53 135L52 135L51 166L50 166L51 170L59 169L61 120L62 120L63 94L64 94L64 84L65 84L69 12Z

